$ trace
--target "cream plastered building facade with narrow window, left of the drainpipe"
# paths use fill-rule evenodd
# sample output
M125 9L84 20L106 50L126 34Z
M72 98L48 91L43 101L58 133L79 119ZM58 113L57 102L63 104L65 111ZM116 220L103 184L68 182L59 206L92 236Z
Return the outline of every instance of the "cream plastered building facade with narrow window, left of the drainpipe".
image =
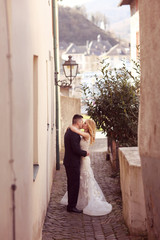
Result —
M52 2L0 1L0 239L39 240L56 169Z

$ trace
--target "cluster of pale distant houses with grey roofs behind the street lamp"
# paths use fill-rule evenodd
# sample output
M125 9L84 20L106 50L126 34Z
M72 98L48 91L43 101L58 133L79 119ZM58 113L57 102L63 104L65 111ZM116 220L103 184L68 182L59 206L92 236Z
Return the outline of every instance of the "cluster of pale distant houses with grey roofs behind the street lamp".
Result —
M60 43L61 46L61 43ZM60 47L61 49L61 47ZM94 85L94 75L99 74L101 69L101 60L110 58L112 67L119 67L122 65L122 59L130 67L130 46L129 43L121 42L112 46L109 41L103 41L101 36L97 36L97 40L87 41L86 45L77 46L70 43L65 51L61 51L61 66L63 61L68 59L71 55L78 63L79 77L73 81L72 88L69 90L69 96L81 98L81 83L86 82L90 87ZM61 73L63 71L61 69ZM61 77L63 78L63 75ZM62 93L62 91L61 91ZM66 94L63 93L62 94Z

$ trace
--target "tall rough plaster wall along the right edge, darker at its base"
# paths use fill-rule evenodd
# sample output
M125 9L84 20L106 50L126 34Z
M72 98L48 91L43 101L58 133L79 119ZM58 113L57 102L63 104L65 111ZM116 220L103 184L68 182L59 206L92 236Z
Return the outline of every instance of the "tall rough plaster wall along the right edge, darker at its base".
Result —
M160 1L139 1L141 99L139 151L149 239L160 239Z

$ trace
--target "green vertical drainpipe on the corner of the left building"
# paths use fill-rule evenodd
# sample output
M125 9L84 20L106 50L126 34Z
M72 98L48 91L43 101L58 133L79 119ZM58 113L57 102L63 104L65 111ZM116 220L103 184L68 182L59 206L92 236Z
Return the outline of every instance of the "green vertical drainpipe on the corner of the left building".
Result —
M53 51L54 51L54 72L55 83L58 80L59 71L59 56L58 56L58 6L57 0L52 0L52 14L53 14ZM56 170L60 169L59 163L59 89L58 85L55 86L56 90Z

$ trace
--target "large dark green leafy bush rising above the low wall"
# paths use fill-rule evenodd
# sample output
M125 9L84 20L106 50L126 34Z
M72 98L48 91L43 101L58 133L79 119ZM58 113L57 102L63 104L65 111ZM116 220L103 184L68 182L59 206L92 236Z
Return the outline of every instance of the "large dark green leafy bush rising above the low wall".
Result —
M88 115L98 128L119 141L120 146L137 145L140 64L134 62L134 75L126 65L110 69L102 62L102 77L96 77L94 90L83 86Z

